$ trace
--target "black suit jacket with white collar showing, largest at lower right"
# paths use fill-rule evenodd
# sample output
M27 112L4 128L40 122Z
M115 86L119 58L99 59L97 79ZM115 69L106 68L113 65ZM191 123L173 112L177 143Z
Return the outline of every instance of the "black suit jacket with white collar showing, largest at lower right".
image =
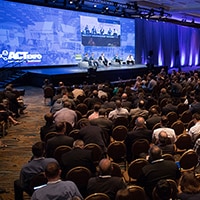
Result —
M161 179L180 178L180 171L175 162L170 160L156 160L142 168L141 176L138 179L138 185L144 187L146 194L152 199L152 191L157 182Z

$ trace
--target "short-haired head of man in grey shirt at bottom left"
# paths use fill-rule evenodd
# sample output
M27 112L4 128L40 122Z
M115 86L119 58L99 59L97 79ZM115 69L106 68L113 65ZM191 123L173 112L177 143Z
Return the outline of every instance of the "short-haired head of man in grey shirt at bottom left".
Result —
M48 180L59 179L61 174L60 166L56 162L50 162L45 169L45 175Z

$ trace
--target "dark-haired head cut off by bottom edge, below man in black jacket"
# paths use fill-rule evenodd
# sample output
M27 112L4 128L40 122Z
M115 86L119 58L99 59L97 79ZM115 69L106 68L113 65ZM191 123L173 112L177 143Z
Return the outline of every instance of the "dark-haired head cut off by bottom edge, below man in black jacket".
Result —
M159 200L169 200L171 197L171 186L170 183L165 180L161 179L155 186L155 195Z

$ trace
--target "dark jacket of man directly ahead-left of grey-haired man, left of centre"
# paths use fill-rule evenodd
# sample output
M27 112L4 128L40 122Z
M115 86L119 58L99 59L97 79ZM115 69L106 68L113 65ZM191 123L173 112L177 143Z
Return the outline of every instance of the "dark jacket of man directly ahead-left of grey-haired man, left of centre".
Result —
M72 147L73 146L74 139L72 137L69 137L67 135L58 134L54 136L53 138L48 139L46 144L46 157L52 158L54 151L57 147L61 145L67 145Z

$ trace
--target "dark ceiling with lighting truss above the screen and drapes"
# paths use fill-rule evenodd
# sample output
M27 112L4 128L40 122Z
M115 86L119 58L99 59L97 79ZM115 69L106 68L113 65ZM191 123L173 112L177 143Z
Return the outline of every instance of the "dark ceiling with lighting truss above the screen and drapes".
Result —
M200 0L10 0L28 4L113 15L127 18L166 21L200 28Z

